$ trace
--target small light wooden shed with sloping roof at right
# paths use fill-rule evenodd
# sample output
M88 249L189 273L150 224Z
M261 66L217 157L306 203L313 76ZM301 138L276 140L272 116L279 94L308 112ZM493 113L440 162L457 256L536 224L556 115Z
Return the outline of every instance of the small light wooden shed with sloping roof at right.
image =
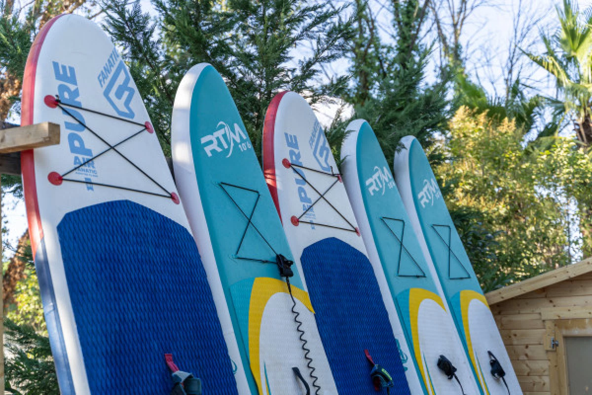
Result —
M592 394L592 259L485 297L525 395Z

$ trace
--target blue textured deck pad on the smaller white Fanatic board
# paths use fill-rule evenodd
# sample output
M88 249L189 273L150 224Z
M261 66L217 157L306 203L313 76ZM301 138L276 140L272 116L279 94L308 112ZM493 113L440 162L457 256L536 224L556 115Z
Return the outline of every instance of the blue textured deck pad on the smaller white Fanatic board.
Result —
M368 258L330 237L304 249L301 264L318 330L340 395L373 395L368 349L392 376L391 394L410 394L397 342Z

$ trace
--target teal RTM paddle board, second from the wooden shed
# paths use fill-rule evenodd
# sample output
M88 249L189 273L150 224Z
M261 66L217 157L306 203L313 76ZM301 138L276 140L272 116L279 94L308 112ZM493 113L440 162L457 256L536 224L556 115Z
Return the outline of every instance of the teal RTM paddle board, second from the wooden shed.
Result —
M478 393L471 366L370 125L349 124L343 141L342 174L368 257L384 269L414 368L425 394L459 394L459 384L437 367L445 355L458 369L465 393Z

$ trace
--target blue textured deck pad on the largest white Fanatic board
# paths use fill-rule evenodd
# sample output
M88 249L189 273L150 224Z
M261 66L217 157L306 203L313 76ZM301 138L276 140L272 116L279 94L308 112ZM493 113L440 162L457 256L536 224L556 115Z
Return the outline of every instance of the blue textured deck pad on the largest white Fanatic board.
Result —
M123 200L72 211L57 231L92 394L169 393L166 353L202 379L204 395L237 394L185 227Z

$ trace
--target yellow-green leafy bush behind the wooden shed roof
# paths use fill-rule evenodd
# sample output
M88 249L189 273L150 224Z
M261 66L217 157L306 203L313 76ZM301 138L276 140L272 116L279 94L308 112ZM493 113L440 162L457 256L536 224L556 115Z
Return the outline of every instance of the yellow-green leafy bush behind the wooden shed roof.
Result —
M571 234L587 214L592 162L571 139L546 150L523 144L516 121L461 107L435 169L485 291L572 262L572 245L589 251L587 233ZM577 212L566 210L576 201Z

